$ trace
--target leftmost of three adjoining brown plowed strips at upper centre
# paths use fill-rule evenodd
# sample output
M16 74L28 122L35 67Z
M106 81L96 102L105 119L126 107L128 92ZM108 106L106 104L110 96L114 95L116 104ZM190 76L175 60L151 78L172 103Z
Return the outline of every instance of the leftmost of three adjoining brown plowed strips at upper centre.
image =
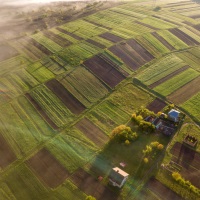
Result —
M116 56L122 59L122 61L128 65L132 70L139 68L139 64L131 58L126 52L124 52L120 46L112 46L109 50Z

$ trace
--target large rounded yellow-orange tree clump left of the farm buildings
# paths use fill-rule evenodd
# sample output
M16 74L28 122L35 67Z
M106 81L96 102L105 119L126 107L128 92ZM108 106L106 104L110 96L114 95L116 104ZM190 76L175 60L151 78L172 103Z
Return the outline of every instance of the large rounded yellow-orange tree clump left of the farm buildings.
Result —
M132 132L131 128L126 125L120 125L116 127L111 133L111 139L125 142L128 140L134 141L137 139L137 133Z

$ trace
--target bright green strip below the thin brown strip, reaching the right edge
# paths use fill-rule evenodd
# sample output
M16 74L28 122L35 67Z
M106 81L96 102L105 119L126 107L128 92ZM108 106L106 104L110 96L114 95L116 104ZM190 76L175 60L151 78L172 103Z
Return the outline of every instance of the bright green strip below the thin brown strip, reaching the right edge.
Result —
M187 69L184 72L155 87L154 90L164 96L167 96L175 90L177 90L178 88L187 84L197 76L199 76L199 73L197 71L193 69Z

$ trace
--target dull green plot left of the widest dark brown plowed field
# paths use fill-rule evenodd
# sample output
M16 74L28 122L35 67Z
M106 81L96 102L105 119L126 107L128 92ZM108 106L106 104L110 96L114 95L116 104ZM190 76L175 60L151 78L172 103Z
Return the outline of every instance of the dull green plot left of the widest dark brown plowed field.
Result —
M58 77L58 80L86 107L103 98L109 91L84 67L77 67L70 73Z

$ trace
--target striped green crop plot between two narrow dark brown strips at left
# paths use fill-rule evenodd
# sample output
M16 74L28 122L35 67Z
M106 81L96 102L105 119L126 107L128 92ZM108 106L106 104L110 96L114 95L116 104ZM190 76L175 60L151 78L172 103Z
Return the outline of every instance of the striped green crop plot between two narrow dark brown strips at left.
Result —
M45 86L35 88L30 94L58 127L63 126L72 120L72 113L60 99Z

